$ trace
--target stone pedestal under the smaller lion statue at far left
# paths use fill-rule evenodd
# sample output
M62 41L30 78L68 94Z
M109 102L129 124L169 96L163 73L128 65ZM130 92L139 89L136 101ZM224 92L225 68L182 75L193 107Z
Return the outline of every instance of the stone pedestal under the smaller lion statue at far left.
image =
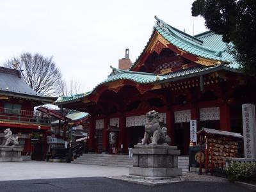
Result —
M22 161L22 147L0 145L0 162Z

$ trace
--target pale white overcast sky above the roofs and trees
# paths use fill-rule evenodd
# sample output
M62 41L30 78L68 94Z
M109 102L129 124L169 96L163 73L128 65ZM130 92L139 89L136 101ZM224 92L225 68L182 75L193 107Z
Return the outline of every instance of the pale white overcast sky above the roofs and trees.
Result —
M53 56L67 81L92 90L118 67L125 48L132 62L152 34L154 15L193 35L193 0L1 0L0 64L22 52ZM206 31L194 18L194 33Z

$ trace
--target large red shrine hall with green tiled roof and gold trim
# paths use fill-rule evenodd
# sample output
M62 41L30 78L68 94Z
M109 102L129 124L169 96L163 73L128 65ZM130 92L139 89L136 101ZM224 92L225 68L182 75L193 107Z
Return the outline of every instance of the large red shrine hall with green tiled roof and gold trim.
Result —
M255 103L255 82L239 70L221 35L191 36L157 17L138 59L131 63L126 49L119 68L111 70L92 92L56 102L90 114L91 152L127 152L129 143L143 138L145 114L155 110L172 145L187 155L189 142L196 142L191 120L195 132L206 127L243 133L241 104ZM110 131L116 132L115 146L109 144Z

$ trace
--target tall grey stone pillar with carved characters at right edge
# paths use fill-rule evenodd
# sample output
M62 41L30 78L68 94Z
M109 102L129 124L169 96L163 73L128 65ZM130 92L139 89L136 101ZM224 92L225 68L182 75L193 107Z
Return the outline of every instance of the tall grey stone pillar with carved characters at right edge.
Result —
M256 159L255 106L243 104L244 158Z

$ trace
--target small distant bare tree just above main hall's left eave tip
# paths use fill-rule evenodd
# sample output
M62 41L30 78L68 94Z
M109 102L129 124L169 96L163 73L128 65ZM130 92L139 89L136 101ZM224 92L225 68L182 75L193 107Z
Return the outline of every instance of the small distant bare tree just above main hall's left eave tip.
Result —
M65 96L81 93L80 81L77 79L71 79L69 83L67 83L63 80L61 84L61 93Z

